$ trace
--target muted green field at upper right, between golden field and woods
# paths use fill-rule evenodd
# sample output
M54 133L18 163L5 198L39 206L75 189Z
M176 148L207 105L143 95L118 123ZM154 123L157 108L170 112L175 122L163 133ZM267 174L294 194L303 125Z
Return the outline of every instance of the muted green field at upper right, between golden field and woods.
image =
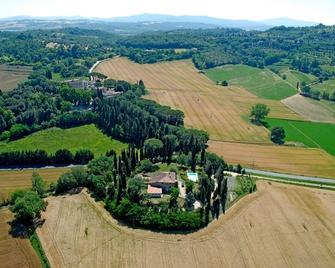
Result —
M227 80L229 85L243 87L264 99L281 100L297 93L294 86L268 69L225 65L208 69L206 75L214 82Z

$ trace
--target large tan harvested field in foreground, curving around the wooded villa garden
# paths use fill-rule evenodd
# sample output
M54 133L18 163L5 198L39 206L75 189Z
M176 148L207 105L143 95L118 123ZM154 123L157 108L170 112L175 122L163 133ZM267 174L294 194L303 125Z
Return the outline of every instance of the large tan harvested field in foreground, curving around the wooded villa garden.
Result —
M335 192L257 186L256 193L192 234L127 228L83 192L49 198L37 233L52 267L334 265Z

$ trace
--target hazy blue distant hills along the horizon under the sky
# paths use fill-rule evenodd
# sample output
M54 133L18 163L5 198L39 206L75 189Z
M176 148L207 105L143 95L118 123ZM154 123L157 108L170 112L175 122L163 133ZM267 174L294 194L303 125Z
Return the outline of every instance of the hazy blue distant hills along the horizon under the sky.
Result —
M207 16L172 16L162 14L140 14L116 18L72 17L30 17L16 16L0 19L0 31L23 31L33 29L56 29L81 27L103 30L117 34L131 35L149 31L169 31L176 29L239 28L264 31L274 26L313 26L316 22L276 18L262 21L230 20Z

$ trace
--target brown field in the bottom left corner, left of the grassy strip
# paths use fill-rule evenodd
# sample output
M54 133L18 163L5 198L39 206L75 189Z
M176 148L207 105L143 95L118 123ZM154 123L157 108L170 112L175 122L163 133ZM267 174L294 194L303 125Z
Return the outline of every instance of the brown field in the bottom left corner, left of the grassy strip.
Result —
M0 208L0 266L3 268L41 267L29 239L13 238L10 234L9 222L13 214L5 208Z

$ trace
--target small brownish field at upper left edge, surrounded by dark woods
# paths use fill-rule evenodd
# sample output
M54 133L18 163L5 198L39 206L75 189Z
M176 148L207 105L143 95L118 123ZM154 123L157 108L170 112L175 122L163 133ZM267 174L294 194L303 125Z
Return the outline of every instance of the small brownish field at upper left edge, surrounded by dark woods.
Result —
M0 65L0 89L7 91L14 89L18 83L26 80L31 67Z

